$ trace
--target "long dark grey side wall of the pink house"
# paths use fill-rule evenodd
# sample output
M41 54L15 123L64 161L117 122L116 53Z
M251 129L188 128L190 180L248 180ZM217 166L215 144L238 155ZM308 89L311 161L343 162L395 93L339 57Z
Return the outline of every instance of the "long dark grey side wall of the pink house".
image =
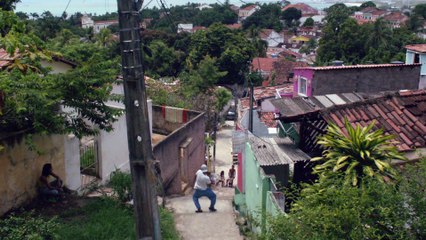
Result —
M312 95L417 89L420 66L315 71Z

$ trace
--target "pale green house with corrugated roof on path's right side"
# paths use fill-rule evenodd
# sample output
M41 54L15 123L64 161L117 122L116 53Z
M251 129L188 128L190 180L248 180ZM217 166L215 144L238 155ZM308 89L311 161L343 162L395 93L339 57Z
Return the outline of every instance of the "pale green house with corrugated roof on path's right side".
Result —
M243 189L236 188L234 202L240 215L254 219L259 227L252 225L255 232L265 227L266 216L284 212L285 199L277 186L286 186L290 165L303 163L310 158L294 149L286 139L260 138L247 134L244 150Z

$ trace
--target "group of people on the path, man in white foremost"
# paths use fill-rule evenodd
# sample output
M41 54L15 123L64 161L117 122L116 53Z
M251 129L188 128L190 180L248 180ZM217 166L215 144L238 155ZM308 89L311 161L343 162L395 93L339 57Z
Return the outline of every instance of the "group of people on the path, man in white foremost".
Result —
M228 171L228 179L225 181L225 172L220 172L220 179L217 181L216 185L222 183L222 187L226 184L226 186L232 187L235 179L235 168L232 165L231 169ZM216 212L216 208L214 207L216 204L216 194L213 192L211 185L214 184L212 181L212 176L207 169L207 165L201 165L200 169L195 173L195 183L194 183L194 194L192 195L192 200L194 201L196 213L202 213L199 198L207 197L210 199L210 212Z

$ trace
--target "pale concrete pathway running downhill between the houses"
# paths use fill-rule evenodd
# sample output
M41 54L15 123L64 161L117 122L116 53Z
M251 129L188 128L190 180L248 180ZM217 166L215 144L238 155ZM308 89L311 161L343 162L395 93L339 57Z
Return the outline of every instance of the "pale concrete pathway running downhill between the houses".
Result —
M231 140L232 122L227 121L227 125L217 133L216 144L216 174L225 171L227 178L228 169L232 164ZM234 185L236 181L234 181ZM235 212L232 206L234 188L215 187L217 196L217 212L208 211L210 200L200 198L203 213L195 213L195 206L192 201L192 192L175 198L167 199L168 208L172 209L175 216L176 228L184 240L214 239L214 240L242 240L238 226L235 223Z

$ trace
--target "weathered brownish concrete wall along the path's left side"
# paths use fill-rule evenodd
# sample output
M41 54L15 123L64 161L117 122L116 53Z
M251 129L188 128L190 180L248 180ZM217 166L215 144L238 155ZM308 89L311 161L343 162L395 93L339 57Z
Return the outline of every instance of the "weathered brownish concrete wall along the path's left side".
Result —
M181 194L182 181L192 187L195 172L204 163L204 113L188 111L188 122L185 124L166 121L160 106L153 106L152 115L154 132L160 130L160 127L171 131L165 139L154 145L154 157L160 161L166 194Z

